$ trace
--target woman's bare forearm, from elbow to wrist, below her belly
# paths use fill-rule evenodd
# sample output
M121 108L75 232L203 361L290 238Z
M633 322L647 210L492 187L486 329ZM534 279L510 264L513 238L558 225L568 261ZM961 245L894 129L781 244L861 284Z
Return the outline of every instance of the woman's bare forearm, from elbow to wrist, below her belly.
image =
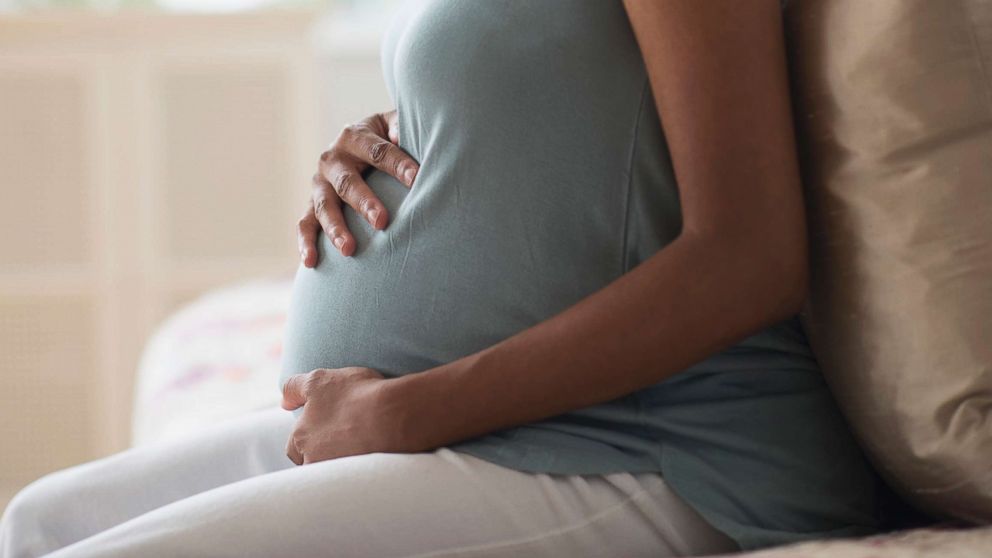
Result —
M794 314L805 275L757 242L683 235L544 322L386 382L403 436L435 448L615 399Z

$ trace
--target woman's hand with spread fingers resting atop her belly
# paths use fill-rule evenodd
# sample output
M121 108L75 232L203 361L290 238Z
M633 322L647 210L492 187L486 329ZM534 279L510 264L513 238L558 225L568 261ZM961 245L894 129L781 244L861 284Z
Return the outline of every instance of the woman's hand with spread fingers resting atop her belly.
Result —
M364 216L373 228L386 228L389 222L386 206L369 188L362 172L373 166L407 188L412 187L420 165L399 148L399 141L397 113L391 110L346 126L320 154L310 202L297 224L303 265L317 265L317 235L321 230L341 255L355 252L355 237L341 213L342 201Z

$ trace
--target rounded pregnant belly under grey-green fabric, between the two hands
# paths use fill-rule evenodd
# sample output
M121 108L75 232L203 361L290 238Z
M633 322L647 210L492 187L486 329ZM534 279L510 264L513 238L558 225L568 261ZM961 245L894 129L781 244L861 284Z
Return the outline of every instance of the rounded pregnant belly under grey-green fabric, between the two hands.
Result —
M372 231L346 207L358 245L350 258L321 235L320 263L296 274L280 385L316 368L367 366L386 376L432 368L554 315L619 274L619 228L590 230L596 218L574 206L549 212L517 203L526 194L507 199L492 185L423 169L412 190L379 171L367 181L390 224ZM590 207L603 214L602 205Z

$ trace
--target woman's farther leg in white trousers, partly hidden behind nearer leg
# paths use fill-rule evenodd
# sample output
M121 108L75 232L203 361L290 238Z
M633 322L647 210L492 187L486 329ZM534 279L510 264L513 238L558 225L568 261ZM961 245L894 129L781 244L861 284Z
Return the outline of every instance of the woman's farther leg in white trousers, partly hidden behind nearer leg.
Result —
M40 556L199 492L295 467L285 452L294 421L273 407L45 475L7 505L0 558Z

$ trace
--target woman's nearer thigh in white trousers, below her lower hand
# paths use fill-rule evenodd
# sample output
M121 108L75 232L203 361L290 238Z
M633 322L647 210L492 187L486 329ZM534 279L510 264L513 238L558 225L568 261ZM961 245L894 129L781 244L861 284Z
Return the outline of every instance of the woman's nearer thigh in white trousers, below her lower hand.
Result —
M51 558L582 557L736 550L657 474L531 474L448 448L371 453L201 492Z

